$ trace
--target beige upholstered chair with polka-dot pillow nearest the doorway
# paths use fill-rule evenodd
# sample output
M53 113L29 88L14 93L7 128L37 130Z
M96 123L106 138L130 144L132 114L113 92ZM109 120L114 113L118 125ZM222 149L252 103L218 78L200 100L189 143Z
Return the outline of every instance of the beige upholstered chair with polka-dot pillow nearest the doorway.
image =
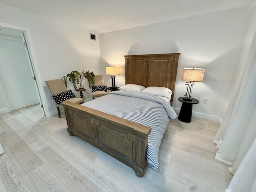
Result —
M63 79L48 80L46 81L46 84L54 98L54 101L58 110L59 118L60 118L60 108L63 108L60 103L63 102L64 100L68 100L70 102L77 103L77 104L81 104L84 102L82 98L76 98L74 96L74 93L71 90L67 91L67 88ZM58 96L63 96L62 98L64 98L64 100L61 99L59 101L58 100L56 101L56 97Z

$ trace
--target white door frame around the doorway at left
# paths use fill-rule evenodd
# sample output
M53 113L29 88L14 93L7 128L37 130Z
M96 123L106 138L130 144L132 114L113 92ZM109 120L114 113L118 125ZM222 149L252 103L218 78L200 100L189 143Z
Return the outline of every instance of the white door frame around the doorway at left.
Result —
M33 60L33 58L36 54L34 53L34 48L33 48L32 42L30 41L30 39L32 39L32 38L30 37L29 29L21 27L21 26L15 26L15 25L11 25L11 24L2 23L2 22L0 22L0 26L10 28L10 29L20 30L20 31L24 32L26 42L29 45L28 46L28 54L29 54L30 58L28 58L28 60L30 59L31 73L36 78L35 83L37 85L36 89L38 92L38 98L39 98L40 104L44 106L42 113L43 113L43 115L50 116L49 107L48 107L48 103L47 103L45 92L44 92L44 86L42 84L42 78L40 76L38 66Z

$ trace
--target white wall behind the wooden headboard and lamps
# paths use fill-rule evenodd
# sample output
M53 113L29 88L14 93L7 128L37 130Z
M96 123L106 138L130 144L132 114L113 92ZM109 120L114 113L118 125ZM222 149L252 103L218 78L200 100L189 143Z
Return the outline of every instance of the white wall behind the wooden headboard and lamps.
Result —
M204 68L204 82L193 88L192 97L200 101L193 111L223 118L251 15L244 7L100 34L102 74L106 66L122 67L116 76L116 85L122 86L124 55L180 52L173 107L181 107L178 97L186 88L182 68ZM111 84L108 76L104 80ZM203 98L208 98L207 104L202 104Z

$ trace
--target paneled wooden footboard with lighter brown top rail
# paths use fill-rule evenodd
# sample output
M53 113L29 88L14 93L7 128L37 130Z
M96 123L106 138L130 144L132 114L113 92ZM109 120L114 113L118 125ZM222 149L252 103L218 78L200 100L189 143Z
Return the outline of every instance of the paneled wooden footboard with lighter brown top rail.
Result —
M144 176L150 127L68 101L62 106L70 136L78 136Z

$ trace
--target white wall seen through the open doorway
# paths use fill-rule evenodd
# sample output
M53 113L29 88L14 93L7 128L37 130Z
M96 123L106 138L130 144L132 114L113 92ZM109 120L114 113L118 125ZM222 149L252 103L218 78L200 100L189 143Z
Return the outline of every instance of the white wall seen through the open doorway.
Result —
M21 33L20 39L0 36L0 61L1 92L12 110L39 103ZM6 105L6 100L0 100L0 105Z

